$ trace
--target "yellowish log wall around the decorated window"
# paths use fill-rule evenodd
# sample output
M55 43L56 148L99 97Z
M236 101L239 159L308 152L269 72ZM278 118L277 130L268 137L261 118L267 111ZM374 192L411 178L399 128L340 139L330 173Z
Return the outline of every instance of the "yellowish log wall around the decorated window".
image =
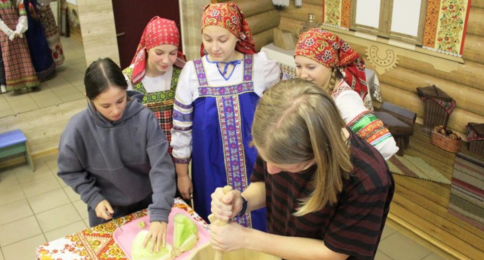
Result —
M322 1L303 0L302 7L296 8L294 1L281 10L281 29L297 34L307 13L313 13L321 21ZM340 35L345 39L345 35ZM366 48L361 43L348 41L359 53L365 56ZM464 64L457 70L447 73L434 69L432 64L398 56L398 65L392 71L378 75L384 101L408 108L417 113L418 121L423 121L423 102L417 96L417 87L435 84L456 100L457 106L450 116L448 127L465 136L468 122L484 122L484 0L472 0L469 23L464 42ZM367 67L372 65L367 62ZM402 96L406 98L401 98Z

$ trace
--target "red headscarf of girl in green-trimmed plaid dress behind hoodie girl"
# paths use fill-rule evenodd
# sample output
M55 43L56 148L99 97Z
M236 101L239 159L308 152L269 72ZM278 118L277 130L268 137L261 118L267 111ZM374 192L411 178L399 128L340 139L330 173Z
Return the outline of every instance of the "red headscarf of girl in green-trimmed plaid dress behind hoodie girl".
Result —
M146 25L136 49L135 57L131 61L131 64L134 64L131 79L134 84L145 76L148 50L163 44L178 46L180 44L180 33L174 21L154 16ZM179 51L175 66L182 68L185 62L185 56Z

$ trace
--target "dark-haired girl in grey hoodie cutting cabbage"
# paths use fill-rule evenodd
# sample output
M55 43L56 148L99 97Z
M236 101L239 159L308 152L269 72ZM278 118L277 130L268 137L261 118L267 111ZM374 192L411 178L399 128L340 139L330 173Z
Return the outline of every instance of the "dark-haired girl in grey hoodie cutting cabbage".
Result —
M148 207L144 246L159 251L176 187L165 134L109 58L91 63L84 85L88 107L62 133L57 174L88 204L91 227Z

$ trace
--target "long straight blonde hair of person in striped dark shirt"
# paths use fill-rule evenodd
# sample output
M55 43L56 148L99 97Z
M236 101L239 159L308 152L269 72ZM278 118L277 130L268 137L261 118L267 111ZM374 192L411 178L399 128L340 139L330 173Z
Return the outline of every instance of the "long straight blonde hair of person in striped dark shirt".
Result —
M252 124L253 144L275 164L316 160L314 191L301 200L296 216L321 210L337 201L353 168L346 126L331 96L310 81L281 81L264 93Z

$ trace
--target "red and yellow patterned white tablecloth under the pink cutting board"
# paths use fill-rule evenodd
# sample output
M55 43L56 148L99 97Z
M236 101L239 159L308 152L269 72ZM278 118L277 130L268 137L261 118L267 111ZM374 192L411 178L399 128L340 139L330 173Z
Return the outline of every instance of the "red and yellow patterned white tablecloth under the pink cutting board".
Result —
M173 208L185 210L208 230L208 224L182 199L176 198ZM37 247L37 260L128 260L118 244L114 242L113 232L117 226L113 221L121 226L145 216L147 213L148 210L146 209L138 211L39 245Z

